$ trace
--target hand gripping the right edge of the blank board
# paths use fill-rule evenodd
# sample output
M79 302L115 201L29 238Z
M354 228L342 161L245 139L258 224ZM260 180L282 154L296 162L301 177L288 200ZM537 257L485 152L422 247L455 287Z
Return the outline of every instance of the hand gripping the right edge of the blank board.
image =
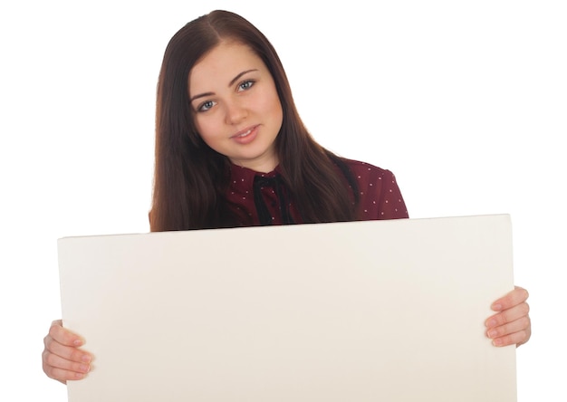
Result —
M495 301L491 308L498 311L485 321L486 336L495 346L523 345L532 336L528 292L518 286L505 297Z

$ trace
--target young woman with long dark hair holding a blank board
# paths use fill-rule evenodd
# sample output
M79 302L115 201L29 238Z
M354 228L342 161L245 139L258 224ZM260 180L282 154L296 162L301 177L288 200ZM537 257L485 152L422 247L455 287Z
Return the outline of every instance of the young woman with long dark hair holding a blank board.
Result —
M159 74L151 231L406 218L388 170L339 158L303 126L273 46L239 15L214 11L168 43ZM495 346L529 340L527 292L493 304ZM91 354L54 321L43 370L83 378Z

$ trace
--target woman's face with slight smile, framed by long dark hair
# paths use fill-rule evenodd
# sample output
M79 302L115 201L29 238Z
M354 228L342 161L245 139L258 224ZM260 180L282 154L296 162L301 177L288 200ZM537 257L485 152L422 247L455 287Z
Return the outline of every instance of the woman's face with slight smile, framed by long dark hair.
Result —
M274 170L283 120L272 74L242 43L221 43L203 57L188 78L197 131L210 148L235 165Z

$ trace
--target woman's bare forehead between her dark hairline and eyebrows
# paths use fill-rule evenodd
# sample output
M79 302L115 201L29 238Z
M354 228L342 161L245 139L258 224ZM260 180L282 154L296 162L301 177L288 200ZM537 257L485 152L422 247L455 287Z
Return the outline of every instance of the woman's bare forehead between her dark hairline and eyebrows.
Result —
M250 46L239 42L222 42L206 53L189 72L190 92L210 91L216 85L226 86L240 72L267 70Z

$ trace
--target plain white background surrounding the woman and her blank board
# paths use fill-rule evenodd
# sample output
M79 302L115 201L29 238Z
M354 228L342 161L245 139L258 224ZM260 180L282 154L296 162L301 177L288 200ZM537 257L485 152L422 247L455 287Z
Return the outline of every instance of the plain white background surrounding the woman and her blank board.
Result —
M56 240L149 230L161 57L215 8L268 36L314 138L392 170L411 217L512 215L533 319L518 400L567 400L563 3L4 2L0 400L66 400L41 369Z

